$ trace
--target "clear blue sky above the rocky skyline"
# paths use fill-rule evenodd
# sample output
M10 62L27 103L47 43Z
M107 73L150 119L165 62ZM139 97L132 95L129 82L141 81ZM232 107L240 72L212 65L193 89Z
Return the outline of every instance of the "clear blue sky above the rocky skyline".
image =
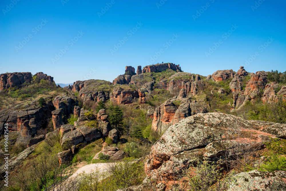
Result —
M125 66L148 65L160 49L163 53L152 63L172 62L204 76L216 70L237 71L255 52L258 56L247 64L247 71L284 72L286 2L258 3L255 7L255 0L167 0L159 6L160 0L1 0L0 73L44 72L56 83L84 78L112 81ZM136 26L134 34L128 32ZM231 35L223 36L226 32ZM173 44L165 44L172 38ZM119 40L124 44L111 53ZM206 56L214 43L219 47ZM264 43L268 46L263 48ZM61 57L53 62L55 54Z

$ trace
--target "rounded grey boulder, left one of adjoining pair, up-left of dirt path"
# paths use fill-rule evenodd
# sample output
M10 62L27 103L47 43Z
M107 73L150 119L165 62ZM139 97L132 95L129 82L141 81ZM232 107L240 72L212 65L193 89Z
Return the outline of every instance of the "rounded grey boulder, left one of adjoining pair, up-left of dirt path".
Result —
M84 136L79 130L69 131L63 135L61 145L71 147L72 145L78 145L84 141Z

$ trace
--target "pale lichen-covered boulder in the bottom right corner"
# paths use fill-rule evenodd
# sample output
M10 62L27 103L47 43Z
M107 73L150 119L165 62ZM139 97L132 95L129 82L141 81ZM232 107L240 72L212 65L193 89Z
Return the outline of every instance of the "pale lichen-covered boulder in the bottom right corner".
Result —
M264 172L252 170L234 176L235 180L227 191L281 191L286 190L286 172Z

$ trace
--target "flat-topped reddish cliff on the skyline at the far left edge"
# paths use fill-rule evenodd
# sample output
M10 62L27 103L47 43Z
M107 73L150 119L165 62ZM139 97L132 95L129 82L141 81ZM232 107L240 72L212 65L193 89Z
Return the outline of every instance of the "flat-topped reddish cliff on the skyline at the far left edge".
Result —
M0 90L16 88L25 82L31 82L31 72L13 72L0 74Z

